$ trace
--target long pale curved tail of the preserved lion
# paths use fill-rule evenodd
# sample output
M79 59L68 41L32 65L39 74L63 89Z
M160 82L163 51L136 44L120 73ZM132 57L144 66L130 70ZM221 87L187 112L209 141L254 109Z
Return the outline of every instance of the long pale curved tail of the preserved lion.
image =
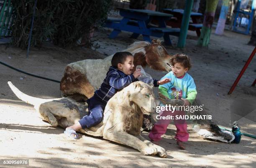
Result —
M25 101L28 104L32 104L34 106L40 105L44 102L51 101L52 99L40 99L37 97L28 96L27 94L24 94L21 92L18 88L16 88L12 82L8 81L8 85L12 89L13 93L22 101Z

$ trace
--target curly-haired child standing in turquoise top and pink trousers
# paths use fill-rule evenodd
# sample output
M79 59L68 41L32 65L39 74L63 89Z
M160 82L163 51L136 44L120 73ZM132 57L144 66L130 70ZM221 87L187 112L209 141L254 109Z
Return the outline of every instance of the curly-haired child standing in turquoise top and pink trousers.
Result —
M195 100L197 90L194 79L187 73L190 69L190 59L187 55L176 54L171 59L172 72L166 74L163 78L171 79L171 82L160 85L159 91L169 99L182 99L184 106L189 106ZM185 120L176 119L176 116L184 116L184 111L161 111L161 116L172 115L174 116L174 124L177 128L175 139L177 145L181 149L185 149L182 142L187 141L189 133L187 132L187 124ZM160 141L161 135L166 132L170 120L159 120L149 133L149 138L152 141Z

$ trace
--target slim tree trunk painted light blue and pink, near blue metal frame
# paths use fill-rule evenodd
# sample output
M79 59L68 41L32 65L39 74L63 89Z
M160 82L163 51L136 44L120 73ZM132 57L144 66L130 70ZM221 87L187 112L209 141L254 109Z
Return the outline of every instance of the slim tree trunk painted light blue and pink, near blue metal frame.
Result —
M223 0L223 4L220 11L220 17L218 20L218 25L215 30L216 35L223 35L224 33L226 16L228 13L228 3L229 3L229 0Z

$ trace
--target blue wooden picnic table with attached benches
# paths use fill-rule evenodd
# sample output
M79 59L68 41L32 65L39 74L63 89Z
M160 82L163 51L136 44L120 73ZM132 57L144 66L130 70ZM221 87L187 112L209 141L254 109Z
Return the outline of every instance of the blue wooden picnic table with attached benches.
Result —
M133 32L132 38L143 36L143 40L151 42L150 36L164 37L164 42L167 45L172 45L169 35L179 35L179 28L166 27L166 20L169 20L173 15L152 10L137 10L118 8L123 19L108 19L105 27L113 28L114 30L109 35L109 38L115 38L123 30ZM157 20L158 25L150 25L151 20Z

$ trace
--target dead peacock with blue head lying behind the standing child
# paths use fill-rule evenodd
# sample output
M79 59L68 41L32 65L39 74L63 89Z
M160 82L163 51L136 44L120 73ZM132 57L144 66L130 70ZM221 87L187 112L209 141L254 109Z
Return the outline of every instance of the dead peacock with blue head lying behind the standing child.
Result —
M159 93L159 99L164 104L169 104L170 99L166 98L164 95ZM182 101L182 100L180 100ZM198 106L197 101L194 101L195 106ZM188 115L191 115L192 113L188 113ZM200 115L208 115L205 110L197 111L196 114L198 116ZM193 123L199 124L195 125L193 129L204 138L212 139L215 141L221 141L225 143L239 143L241 140L241 132L238 128L238 121L235 121L233 123L232 132L221 129L214 121L212 120L205 120L205 119L194 119L192 120Z

